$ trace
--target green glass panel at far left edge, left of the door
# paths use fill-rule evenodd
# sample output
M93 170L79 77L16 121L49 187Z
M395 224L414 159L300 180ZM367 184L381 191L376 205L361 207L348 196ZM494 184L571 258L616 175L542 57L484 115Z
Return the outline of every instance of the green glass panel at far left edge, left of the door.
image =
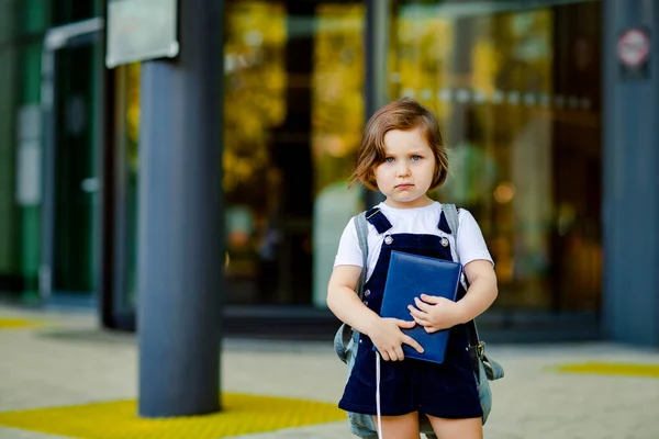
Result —
M0 2L0 294L37 297L41 54L49 8Z

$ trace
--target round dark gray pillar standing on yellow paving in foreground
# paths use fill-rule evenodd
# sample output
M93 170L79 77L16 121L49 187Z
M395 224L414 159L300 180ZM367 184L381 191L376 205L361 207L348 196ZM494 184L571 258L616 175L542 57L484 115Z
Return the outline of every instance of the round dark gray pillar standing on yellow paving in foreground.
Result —
M220 409L222 1L179 1L179 58L142 67L139 415Z

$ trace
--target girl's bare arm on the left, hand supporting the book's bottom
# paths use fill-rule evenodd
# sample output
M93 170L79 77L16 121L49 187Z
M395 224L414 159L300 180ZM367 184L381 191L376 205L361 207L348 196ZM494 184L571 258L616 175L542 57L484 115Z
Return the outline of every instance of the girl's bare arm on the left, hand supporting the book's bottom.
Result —
M402 360L402 344L412 346L418 352L423 348L400 328L412 328L413 320L381 318L366 306L355 293L361 267L336 266L327 285L327 306L338 319L367 335L380 351L383 360Z

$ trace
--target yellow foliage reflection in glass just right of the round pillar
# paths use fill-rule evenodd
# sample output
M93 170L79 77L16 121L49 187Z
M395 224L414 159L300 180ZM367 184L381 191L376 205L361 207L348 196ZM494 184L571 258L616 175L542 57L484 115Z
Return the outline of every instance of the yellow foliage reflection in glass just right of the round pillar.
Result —
M286 116L286 9L265 1L226 3L224 189L269 167L269 133Z

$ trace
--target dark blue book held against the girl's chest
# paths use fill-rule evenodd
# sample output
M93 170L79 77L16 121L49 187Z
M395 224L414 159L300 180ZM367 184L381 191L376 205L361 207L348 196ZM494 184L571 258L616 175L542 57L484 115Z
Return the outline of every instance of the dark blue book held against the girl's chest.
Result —
M461 274L462 264L459 262L393 250L380 315L412 320L407 305L414 305L414 297L421 297L421 294L444 296L455 302ZM449 329L428 334L416 324L412 329L403 329L403 333L424 349L423 353L418 353L411 346L403 345L405 358L444 362Z

